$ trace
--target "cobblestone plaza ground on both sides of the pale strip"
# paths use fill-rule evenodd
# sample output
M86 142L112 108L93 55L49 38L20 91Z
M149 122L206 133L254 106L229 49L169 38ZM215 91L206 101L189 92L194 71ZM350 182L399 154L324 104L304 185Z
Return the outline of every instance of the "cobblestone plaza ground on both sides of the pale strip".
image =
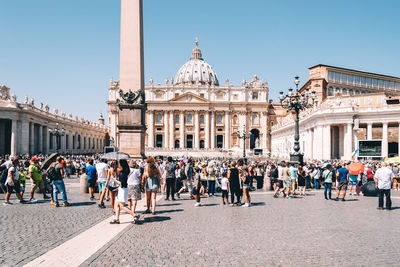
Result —
M0 206L0 265L29 263L112 215L79 193L77 179L67 182L71 207ZM201 201L160 201L155 216L142 214L81 266L398 265L398 192L392 211L376 210L376 198L326 201L322 190L293 199L260 191L250 208Z

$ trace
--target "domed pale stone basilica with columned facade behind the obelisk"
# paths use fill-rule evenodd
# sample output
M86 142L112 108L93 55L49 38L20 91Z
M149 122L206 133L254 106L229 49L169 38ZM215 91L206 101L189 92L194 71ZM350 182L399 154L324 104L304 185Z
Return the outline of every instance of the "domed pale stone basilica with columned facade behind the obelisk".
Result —
M118 140L119 82L109 87L110 136ZM192 55L174 78L146 95L146 156L239 157L270 152L268 84L256 75L240 86L220 84L196 41ZM243 133L247 138L240 138ZM118 143L118 142L117 142Z

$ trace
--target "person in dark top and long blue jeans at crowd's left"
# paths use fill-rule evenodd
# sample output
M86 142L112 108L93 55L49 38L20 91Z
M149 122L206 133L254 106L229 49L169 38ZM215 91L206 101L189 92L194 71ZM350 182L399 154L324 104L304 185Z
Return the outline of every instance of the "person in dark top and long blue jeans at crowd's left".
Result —
M60 206L58 204L58 193L61 193L63 199L63 206L64 207L70 206L67 198L67 190L65 189L65 184L63 180L64 168L63 165L61 164L62 160L63 159L61 157L57 157L56 160L50 164L49 168L46 171L47 177L49 177L49 179L53 184L53 202L51 202L51 205L53 207Z

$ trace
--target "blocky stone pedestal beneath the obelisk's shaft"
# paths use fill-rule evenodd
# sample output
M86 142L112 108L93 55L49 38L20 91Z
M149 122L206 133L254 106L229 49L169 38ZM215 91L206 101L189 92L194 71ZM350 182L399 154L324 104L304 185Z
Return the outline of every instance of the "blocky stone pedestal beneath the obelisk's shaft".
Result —
M121 105L118 113L118 149L134 159L144 155L146 133L145 113L143 105Z

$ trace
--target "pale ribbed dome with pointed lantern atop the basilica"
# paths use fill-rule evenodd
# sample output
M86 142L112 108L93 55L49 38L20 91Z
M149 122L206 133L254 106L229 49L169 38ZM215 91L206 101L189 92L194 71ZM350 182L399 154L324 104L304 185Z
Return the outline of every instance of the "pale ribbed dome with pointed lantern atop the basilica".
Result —
M218 86L218 78L214 69L204 61L198 42L192 50L192 57L176 73L175 85L215 85Z

